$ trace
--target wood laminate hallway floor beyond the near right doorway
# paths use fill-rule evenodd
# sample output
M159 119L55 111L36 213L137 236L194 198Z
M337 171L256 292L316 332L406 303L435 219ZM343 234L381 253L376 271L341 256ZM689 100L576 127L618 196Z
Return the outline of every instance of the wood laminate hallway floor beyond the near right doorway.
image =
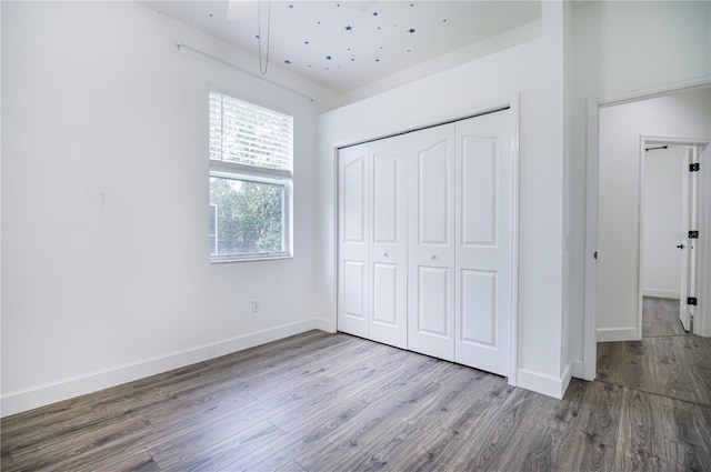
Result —
M597 378L711 406L711 339L681 328L678 300L645 297L642 340L598 343Z

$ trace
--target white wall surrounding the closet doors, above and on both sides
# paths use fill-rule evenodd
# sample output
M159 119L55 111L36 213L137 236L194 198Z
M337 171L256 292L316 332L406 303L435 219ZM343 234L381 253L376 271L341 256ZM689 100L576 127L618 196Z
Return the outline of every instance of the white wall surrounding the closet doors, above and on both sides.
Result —
M542 6L542 37L319 118L322 312L336 329L334 148L481 110L520 94L519 371L560 396L562 356L563 8Z

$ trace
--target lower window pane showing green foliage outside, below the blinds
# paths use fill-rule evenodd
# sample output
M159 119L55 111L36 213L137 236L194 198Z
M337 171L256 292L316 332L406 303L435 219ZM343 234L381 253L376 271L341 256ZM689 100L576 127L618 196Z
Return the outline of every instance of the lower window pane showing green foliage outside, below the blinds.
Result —
M216 214L217 234L214 244L211 238L210 254L283 253L283 184L210 177L210 205Z

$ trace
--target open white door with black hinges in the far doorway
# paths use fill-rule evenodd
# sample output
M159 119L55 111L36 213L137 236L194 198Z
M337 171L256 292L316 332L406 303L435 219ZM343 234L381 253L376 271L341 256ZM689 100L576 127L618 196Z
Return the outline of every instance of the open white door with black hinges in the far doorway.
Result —
M679 319L685 331L691 330L691 319L694 305L688 303L689 297L695 297L697 258L695 247L698 238L690 238L697 227L697 175L690 172L689 164L698 162L697 148L689 147L682 160L681 183L681 298L679 300Z

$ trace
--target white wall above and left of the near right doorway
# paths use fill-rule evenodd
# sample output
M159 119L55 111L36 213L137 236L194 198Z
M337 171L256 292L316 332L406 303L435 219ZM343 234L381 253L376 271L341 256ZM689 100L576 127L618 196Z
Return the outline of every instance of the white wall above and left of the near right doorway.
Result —
M591 255L585 253L584 245L587 101L690 80L711 80L710 23L711 3L707 1L600 1L573 11L572 159L567 197L571 202L568 335L573 365L580 369L584 345L585 255Z

